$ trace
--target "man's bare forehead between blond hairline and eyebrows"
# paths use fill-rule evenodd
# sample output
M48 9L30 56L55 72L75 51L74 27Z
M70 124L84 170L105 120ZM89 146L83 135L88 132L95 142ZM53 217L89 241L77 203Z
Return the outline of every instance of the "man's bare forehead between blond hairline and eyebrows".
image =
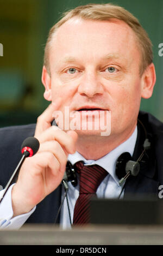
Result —
M97 50L98 49L98 50ZM139 44L134 31L124 21L83 20L78 17L66 21L53 35L50 61L52 57L68 55L96 57L115 54L122 58L140 55Z

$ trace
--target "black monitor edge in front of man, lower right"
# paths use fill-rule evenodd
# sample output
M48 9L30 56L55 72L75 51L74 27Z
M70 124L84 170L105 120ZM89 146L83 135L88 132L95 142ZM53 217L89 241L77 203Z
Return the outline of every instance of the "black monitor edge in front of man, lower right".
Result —
M156 199L91 200L91 224L163 224L163 201Z

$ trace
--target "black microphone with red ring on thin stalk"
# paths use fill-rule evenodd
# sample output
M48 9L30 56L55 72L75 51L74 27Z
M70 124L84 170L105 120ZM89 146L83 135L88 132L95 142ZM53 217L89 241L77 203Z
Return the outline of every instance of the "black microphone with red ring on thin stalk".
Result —
M17 171L21 168L26 157L34 156L34 154L39 150L39 147L40 147L40 142L39 142L39 140L37 140L34 137L28 137L27 139L25 139L23 141L22 146L21 146L22 158L21 158L20 162L18 163L15 171L13 172L12 176L10 177L10 180L8 181L7 185L4 188L4 192L3 192L2 198L0 199L0 203L2 202L5 193L7 193L12 181L14 180L14 178L17 174Z

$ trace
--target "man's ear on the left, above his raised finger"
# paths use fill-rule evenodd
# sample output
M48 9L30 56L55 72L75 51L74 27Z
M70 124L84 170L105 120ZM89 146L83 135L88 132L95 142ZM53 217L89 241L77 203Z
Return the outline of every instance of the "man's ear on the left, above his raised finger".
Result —
M49 102L51 102L52 101L51 78L50 78L45 66L43 66L43 68L42 68L41 81L45 87L45 93L43 93L43 97L46 100L49 100Z

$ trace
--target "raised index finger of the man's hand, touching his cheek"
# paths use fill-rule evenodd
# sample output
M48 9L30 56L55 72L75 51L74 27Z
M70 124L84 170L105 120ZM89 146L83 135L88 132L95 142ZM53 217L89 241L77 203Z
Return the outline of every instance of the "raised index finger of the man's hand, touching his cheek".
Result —
M55 102L49 104L47 109L37 118L35 136L40 135L44 130L52 126L51 123L54 120L53 112L59 109L61 102L61 97L59 97Z

